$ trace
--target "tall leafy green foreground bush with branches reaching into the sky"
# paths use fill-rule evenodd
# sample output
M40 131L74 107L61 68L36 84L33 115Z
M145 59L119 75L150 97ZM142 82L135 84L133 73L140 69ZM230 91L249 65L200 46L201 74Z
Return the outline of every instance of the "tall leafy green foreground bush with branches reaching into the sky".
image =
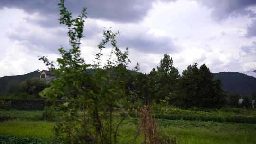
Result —
M87 64L80 51L86 8L77 18L72 18L64 0L60 0L58 6L59 21L68 28L72 48L59 48L61 57L56 61L45 56L40 58L55 75L50 87L40 93L61 110L62 119L54 128L55 137L64 144L118 144L119 129L126 116L114 123L113 112L117 109L126 112L130 107L127 101L122 101L126 96L122 78L130 63L128 48L125 51L119 49L115 39L119 33L112 32L111 28L104 30L94 64ZM101 63L102 51L108 43L112 50L106 63ZM58 104L57 100L62 100L62 103ZM51 115L51 111L44 113L49 120Z

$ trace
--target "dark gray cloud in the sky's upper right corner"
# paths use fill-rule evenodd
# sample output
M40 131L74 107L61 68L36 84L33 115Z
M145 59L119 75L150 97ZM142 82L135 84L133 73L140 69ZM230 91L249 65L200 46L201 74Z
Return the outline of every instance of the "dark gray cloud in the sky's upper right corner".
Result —
M247 9L256 5L256 0L197 0L202 5L212 9L212 17L216 21L229 18L230 16L256 17L256 14Z

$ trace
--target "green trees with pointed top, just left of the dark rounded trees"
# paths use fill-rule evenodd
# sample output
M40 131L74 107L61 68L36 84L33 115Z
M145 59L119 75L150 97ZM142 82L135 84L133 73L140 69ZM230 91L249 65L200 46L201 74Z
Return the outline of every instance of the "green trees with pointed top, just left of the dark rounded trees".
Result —
M173 66L173 60L168 54L164 54L160 65L149 74L135 73L128 77L129 89L133 91L133 101L142 101L144 104L168 103L177 95L178 69Z

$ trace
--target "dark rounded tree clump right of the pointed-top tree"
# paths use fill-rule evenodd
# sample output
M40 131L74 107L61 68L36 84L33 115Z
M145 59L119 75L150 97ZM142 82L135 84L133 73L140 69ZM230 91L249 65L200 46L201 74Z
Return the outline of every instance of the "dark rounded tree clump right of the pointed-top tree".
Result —
M197 67L189 65L180 79L180 97L184 107L220 108L225 104L226 93L221 89L221 82L214 80L205 64Z

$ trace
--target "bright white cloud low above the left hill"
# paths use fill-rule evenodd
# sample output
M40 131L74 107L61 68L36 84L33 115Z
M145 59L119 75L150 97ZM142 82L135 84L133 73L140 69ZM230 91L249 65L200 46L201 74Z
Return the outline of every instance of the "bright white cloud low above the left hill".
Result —
M48 55L50 59L56 59L56 54L46 54L38 51L31 51L31 48L38 49L36 45L29 42L14 42L9 45L8 51L1 56L0 76L20 75L32 72L37 69L46 69L38 56Z

